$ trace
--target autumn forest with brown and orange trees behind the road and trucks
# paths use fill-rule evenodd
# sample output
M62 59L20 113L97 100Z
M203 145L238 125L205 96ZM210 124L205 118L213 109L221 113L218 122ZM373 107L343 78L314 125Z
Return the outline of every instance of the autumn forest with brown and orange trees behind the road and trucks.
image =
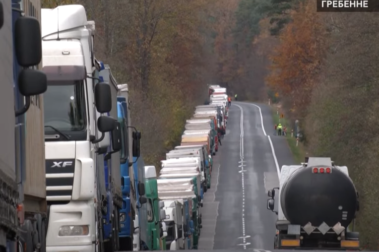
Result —
M146 164L180 143L208 84L270 98L300 121L309 154L349 167L361 245L379 250L378 13L317 13L315 0L42 0L62 4L85 6L96 58L129 84Z

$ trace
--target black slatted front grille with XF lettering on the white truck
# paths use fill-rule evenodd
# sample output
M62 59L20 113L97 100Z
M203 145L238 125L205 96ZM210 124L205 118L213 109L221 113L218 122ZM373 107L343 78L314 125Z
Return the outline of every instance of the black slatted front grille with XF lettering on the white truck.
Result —
M46 200L70 201L74 173L75 159L46 159Z

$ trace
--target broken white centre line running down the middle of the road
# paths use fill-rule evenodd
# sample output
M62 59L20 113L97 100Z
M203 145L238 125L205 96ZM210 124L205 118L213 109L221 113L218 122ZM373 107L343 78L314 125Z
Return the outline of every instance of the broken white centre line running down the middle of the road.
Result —
M244 173L244 169L243 169L243 108L237 104L233 104L237 107L239 107L239 110L241 111L241 121L240 121L240 130L241 130L241 134L239 136L239 157L240 157L240 161L238 163L240 163L240 165L238 167L241 167L241 170L238 171L239 173L241 173L242 175L242 241L243 243L242 244L238 244L238 246L243 246L243 249L246 249L246 245L249 245L250 243L247 242L246 243L246 233L245 233L245 183L244 183L244 176L243 176L243 173Z

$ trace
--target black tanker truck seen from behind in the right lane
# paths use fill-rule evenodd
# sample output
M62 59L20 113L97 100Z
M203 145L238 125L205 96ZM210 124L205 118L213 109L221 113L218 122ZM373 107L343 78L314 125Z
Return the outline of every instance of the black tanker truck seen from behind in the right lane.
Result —
M278 215L275 249L360 250L359 233L353 232L358 192L346 166L309 157L301 165L283 165L279 180L267 200L267 209Z

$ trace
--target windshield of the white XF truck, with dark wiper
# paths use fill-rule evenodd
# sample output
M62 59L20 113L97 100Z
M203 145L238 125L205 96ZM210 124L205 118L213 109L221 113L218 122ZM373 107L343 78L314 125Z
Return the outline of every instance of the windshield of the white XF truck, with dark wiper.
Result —
M49 81L43 94L45 134L85 132L86 103L83 81ZM49 128L50 127L50 128ZM77 139L76 139L77 140Z

